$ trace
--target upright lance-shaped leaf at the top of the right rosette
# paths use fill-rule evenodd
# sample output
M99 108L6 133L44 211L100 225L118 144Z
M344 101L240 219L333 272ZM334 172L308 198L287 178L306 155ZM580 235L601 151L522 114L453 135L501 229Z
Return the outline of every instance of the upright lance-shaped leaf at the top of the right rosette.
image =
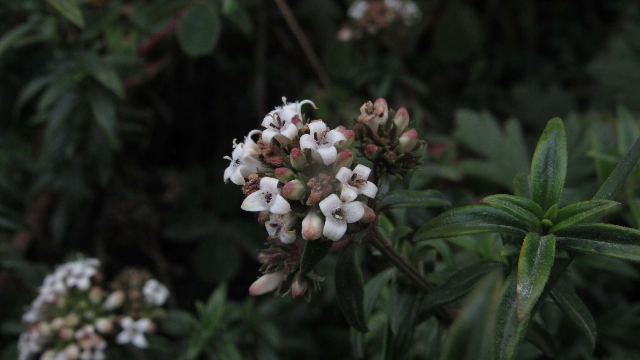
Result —
M531 161L532 200L543 211L557 204L566 176L566 136L559 118L551 119L545 127Z

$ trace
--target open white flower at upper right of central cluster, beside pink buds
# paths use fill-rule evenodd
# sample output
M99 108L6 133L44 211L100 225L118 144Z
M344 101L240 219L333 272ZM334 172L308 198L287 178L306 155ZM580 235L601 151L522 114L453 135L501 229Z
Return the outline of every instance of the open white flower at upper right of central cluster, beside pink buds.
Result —
M324 165L335 162L338 151L335 144L347 138L335 129L329 131L323 121L314 121L309 124L309 133L300 136L300 149L311 149L314 160L322 161Z

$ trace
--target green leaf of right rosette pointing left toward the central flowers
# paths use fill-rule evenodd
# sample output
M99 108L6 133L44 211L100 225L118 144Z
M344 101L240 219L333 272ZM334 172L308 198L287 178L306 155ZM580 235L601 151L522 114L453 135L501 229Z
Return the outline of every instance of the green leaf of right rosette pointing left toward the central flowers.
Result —
M529 225L510 213L487 205L451 209L420 227L413 241L451 238L480 233L508 233L524 236Z

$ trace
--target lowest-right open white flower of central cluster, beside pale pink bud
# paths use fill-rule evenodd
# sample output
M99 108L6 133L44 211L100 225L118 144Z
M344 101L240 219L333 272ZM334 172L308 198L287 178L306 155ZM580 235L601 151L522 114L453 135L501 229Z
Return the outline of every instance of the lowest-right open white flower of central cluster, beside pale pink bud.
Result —
M342 238L348 223L356 222L364 215L362 202L343 203L335 193L320 202L320 210L325 218L323 235L333 241Z

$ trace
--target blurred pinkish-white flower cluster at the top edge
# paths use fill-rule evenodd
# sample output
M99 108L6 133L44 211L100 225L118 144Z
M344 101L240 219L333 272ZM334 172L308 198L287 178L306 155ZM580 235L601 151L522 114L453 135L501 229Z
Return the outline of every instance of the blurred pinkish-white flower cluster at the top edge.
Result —
M349 41L377 33L380 29L401 23L413 25L422 16L417 4L410 0L358 0L347 12L351 21L338 31L338 39Z

